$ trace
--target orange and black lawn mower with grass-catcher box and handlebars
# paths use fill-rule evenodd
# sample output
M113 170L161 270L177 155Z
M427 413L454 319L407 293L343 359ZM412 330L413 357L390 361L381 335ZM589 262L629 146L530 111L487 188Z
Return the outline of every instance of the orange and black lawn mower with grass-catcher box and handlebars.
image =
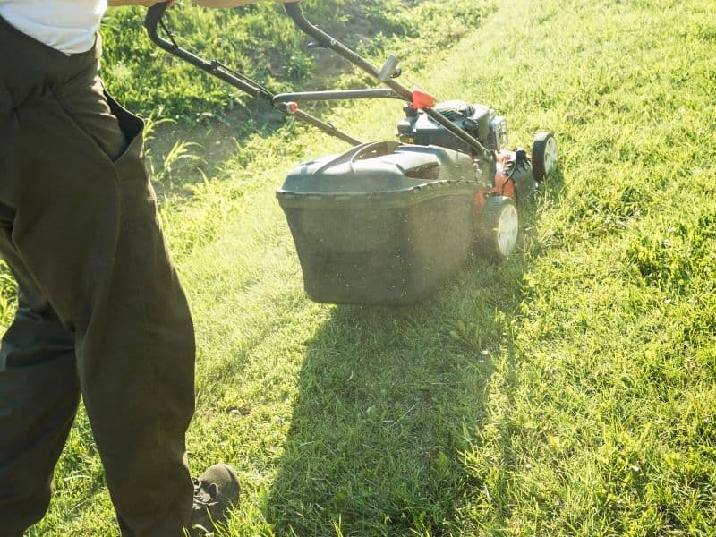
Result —
M296 166L276 192L309 297L320 303L413 303L453 276L473 251L507 258L519 233L517 202L531 199L557 166L554 136L539 132L531 155L510 150L507 120L495 110L409 90L396 80L396 56L378 69L306 20L300 3L284 8L314 46L343 56L384 87L273 94L243 73L179 47L163 19L166 4L149 9L145 26L169 53L351 144L340 155ZM370 98L404 102L397 141L363 143L301 109L303 102Z

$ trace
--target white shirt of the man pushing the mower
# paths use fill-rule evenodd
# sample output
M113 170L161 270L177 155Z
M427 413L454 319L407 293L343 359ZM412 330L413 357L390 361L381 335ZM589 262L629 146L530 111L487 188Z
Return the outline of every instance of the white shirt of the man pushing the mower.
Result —
M105 11L107 0L0 0L0 17L65 54L90 50Z

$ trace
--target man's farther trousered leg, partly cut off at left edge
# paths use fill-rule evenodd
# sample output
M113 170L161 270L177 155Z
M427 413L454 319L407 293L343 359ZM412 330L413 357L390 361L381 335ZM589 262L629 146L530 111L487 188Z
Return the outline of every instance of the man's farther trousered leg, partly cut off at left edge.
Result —
M52 473L80 396L74 335L31 286L0 229L0 255L20 283L18 311L0 348L0 533L21 537L50 500Z

